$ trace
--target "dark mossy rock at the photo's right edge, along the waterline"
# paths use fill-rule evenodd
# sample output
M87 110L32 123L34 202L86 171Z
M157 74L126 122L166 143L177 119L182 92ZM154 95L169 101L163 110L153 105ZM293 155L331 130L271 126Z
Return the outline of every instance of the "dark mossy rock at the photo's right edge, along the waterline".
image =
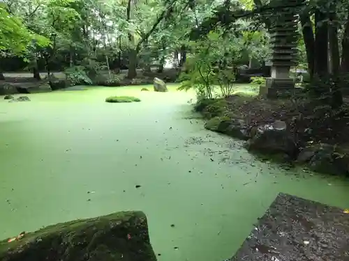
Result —
M325 143L309 145L299 152L297 162L319 173L348 175L349 149Z

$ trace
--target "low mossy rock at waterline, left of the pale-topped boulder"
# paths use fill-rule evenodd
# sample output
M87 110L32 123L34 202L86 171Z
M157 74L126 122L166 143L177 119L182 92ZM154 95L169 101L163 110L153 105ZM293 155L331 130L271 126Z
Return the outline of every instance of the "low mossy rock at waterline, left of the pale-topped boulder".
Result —
M234 120L228 117L214 117L205 123L205 128L220 132L233 138L247 140L248 131L244 120Z

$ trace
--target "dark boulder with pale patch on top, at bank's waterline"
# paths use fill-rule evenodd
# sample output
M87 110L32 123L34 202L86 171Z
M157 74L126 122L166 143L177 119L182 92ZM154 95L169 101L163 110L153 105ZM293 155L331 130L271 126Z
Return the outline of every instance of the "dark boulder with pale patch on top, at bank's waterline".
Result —
M297 152L297 145L290 136L286 123L280 120L255 128L245 148L255 152L285 154L290 157L295 157Z

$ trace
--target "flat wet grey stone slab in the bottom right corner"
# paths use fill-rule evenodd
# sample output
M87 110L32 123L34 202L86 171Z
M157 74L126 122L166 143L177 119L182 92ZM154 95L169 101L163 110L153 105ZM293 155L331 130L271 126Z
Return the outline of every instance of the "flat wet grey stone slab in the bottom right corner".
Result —
M280 193L231 261L348 260L349 214Z

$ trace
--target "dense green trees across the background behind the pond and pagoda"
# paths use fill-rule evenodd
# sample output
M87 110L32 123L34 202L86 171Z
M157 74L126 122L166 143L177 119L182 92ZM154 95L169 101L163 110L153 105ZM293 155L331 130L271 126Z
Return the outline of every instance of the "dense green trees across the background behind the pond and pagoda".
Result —
M296 5L298 67L313 82L346 78L349 2ZM128 69L134 78L136 68L161 72L166 62L182 67L188 59L221 70L260 67L270 56L271 17L287 8L294 7L275 0L5 0L0 69L31 70L39 79L39 71L77 69L89 76Z

